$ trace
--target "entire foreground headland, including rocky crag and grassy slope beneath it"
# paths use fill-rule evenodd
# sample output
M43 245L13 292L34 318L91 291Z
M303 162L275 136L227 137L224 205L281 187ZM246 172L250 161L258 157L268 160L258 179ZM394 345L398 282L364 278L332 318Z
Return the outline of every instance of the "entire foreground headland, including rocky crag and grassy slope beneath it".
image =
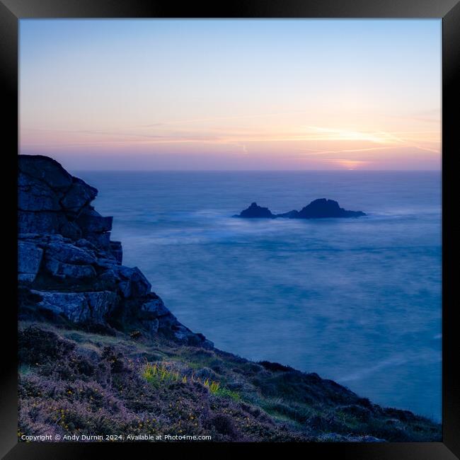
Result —
M18 161L19 441L441 439L317 374L217 350L122 265L95 188L45 156Z

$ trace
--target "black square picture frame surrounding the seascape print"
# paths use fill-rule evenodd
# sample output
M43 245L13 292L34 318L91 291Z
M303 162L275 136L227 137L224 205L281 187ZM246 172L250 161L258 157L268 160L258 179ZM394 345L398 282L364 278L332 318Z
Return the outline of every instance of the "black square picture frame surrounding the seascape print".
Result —
M1 101L4 112L3 156L8 164L3 171L9 192L4 200L11 201L10 224L6 238L11 238L11 260L4 267L6 286L16 286L16 202L11 190L16 186L16 153L18 151L18 21L22 18L442 18L442 258L443 258L443 352L442 352L442 442L427 443L323 443L303 444L302 455L330 455L347 459L458 459L460 456L460 379L458 371L459 334L456 332L454 262L456 260L456 229L454 200L458 194L454 161L456 120L459 98L460 4L456 0L234 0L228 4L176 4L164 0L0 0L0 73ZM16 150L16 151L15 151ZM17 190L17 189L16 189ZM11 280L9 279L11 277ZM11 282L11 284L9 284ZM6 292L6 291L5 291ZM15 290L13 289L13 299ZM4 297L2 295L2 297ZM10 296L11 297L11 296ZM0 455L11 459L87 459L118 454L137 455L138 449L158 454L160 446L137 444L74 444L17 442L17 311L13 301L4 297L1 312L2 338L6 340L2 359L0 387ZM180 444L163 444L173 449ZM210 449L219 444L187 444L188 449ZM226 445L226 449L237 445ZM133 450L134 449L134 450ZM271 446L270 446L271 449ZM283 444L282 449L290 449ZM134 452L135 451L135 452ZM231 450L229 451L231 452ZM235 452L235 451L234 451Z

